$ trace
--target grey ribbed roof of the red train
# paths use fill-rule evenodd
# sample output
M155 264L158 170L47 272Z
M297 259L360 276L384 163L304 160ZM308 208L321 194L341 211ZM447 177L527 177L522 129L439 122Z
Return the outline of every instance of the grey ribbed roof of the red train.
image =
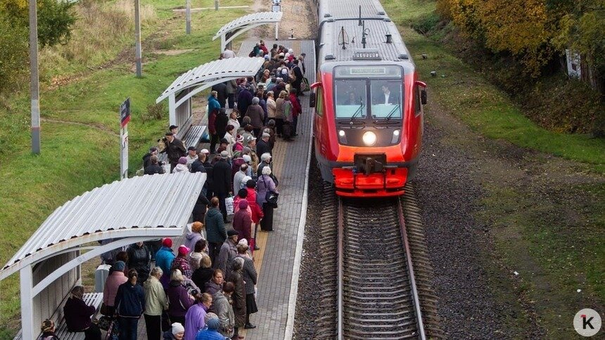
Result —
M359 25L359 6L361 20ZM362 45L362 28L367 30ZM344 31L344 34L343 34ZM411 61L409 51L378 0L321 0L319 4L321 63L349 60ZM392 42L387 43L387 34ZM343 48L343 35L345 47Z

